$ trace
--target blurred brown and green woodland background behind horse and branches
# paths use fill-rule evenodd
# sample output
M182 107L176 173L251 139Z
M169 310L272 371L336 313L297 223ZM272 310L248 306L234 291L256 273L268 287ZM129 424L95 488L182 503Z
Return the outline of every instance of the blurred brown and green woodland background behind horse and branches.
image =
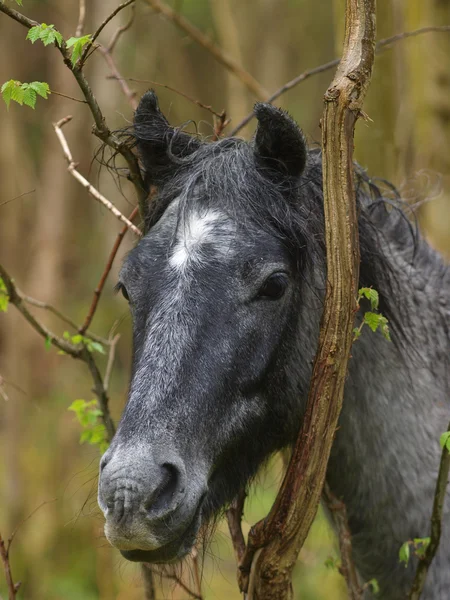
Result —
M87 0L85 33L119 4ZM427 25L450 24L450 0L380 0L378 37ZM39 22L54 23L64 37L75 34L78 0L23 0L23 11ZM340 53L344 0L171 0L171 5L241 62L269 91ZM129 9L127 9L129 11ZM100 37L107 43L129 13L123 11ZM0 83L8 79L47 81L52 90L80 98L60 55L25 41L25 30L0 15ZM124 77L154 80L188 94L215 110L226 109L237 124L255 98L171 22L137 2L136 18L115 51ZM111 128L126 126L132 110L99 52L87 76ZM328 71L308 79L277 101L303 127L311 142L320 140L322 96ZM130 82L142 94L150 84ZM180 95L158 88L160 103L173 124L193 120L212 134L211 115ZM376 58L365 103L370 121L360 121L356 157L373 175L392 181L410 202L432 198L417 211L431 244L450 253L450 34L429 33L405 40ZM119 189L93 156L98 140L85 105L52 95L35 111L0 106L0 256L27 294L57 305L82 322L103 271L119 223L99 207L66 171L51 123L73 115L66 126L79 170L123 212L134 203L127 182ZM241 132L249 137L254 122ZM226 133L226 132L225 132ZM30 193L28 193L30 192ZM24 196L18 197L21 194ZM14 199L14 200L13 200ZM134 240L127 235L107 283L93 329L107 336L119 322L121 339L110 392L119 418L130 366L130 319L121 297L113 294L121 256ZM51 315L40 317L56 332L65 327ZM104 367L104 364L102 365ZM67 408L76 398L89 401L91 381L85 365L53 349L10 307L0 314L0 374L9 401L0 398L0 531L4 537L21 525L11 551L19 597L29 600L138 600L143 598L139 568L109 547L96 505L98 451L80 446L79 426ZM245 511L248 524L264 515L280 480L280 461L272 461ZM296 598L344 598L341 576L326 564L338 557L336 543L319 515L295 570ZM188 567L187 567L188 568ZM185 598L164 584L158 598ZM238 598L235 564L226 527L221 524L206 552L204 593L209 599ZM5 597L3 575L0 595Z

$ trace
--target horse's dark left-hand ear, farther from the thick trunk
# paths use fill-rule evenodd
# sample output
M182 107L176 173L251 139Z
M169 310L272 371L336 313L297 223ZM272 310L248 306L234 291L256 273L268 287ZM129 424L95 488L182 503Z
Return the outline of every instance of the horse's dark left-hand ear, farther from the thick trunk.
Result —
M176 168L176 158L197 150L198 139L171 127L159 109L153 90L146 92L134 113L134 138L148 184L159 185Z

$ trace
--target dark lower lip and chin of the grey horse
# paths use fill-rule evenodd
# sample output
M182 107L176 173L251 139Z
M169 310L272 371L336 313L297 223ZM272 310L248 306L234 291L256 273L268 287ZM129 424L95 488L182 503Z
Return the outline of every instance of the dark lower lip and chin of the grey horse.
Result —
M160 546L155 550L120 550L121 555L131 562L153 564L178 562L190 552L195 544L202 520L202 506L203 498L186 529L168 544Z

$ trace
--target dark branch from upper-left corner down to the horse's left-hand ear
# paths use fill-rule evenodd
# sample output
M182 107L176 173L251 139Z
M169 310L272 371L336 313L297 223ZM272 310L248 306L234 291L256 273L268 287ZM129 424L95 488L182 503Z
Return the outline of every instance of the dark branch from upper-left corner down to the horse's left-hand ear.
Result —
M22 13L19 13L17 10L6 6L4 2L0 2L0 12L3 12L4 14L8 15L11 19L14 19L27 29L31 29L31 27L39 25L39 23L33 21L32 19L29 19ZM75 65L72 64L70 53L68 52L67 46L64 42L61 44L61 46L59 46L56 42L54 45L61 53L64 60L64 64L75 77L78 86L86 99L86 102L89 106L89 109L95 122L93 133L110 148L112 148L115 152L123 156L123 158L125 159L129 169L129 179L136 190L136 195L139 203L139 212L141 213L142 221L145 223L148 211L148 193L147 187L142 178L142 173L139 168L137 157L132 152L129 145L127 143L124 143L116 135L114 135L107 126L105 117L103 116L97 99L92 92L92 88L90 87L86 77L84 76L83 70L80 65L80 61L78 61Z

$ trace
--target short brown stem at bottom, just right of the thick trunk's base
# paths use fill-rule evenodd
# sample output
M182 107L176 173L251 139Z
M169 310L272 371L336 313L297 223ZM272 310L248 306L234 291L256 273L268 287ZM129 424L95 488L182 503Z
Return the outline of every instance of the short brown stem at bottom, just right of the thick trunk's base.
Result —
M341 567L339 571L347 583L350 600L361 600L363 591L358 581L358 573L352 558L352 536L347 521L345 504L336 498L325 483L322 498L333 517L333 522L338 531L339 549L341 551Z

